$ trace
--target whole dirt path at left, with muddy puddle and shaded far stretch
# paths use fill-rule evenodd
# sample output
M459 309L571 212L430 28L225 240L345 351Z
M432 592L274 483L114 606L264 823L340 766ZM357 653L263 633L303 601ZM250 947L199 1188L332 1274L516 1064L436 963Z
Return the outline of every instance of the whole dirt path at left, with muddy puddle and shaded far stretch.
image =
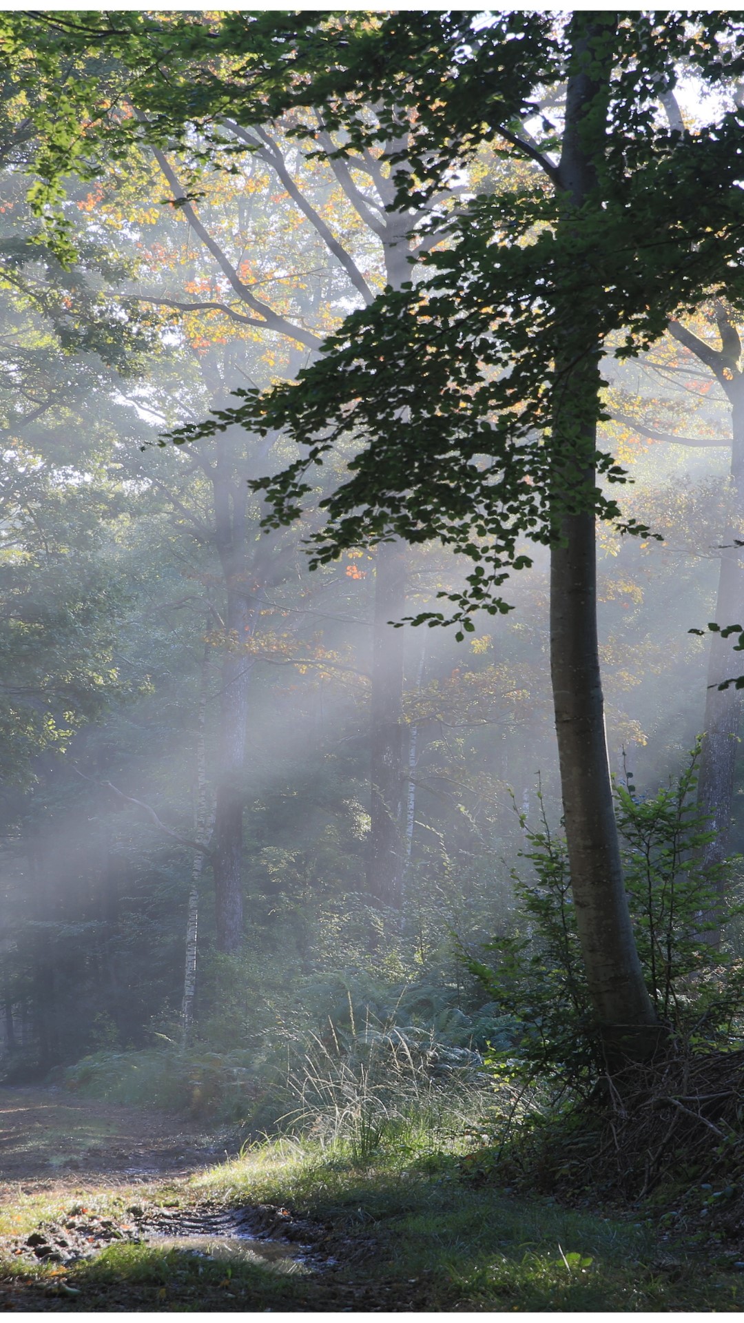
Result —
M187 1180L238 1147L234 1132L209 1132L167 1113L75 1098L62 1089L0 1088L0 1211L13 1228L16 1209L30 1204L36 1224L30 1234L24 1224L0 1236L0 1258L8 1265L4 1271L0 1262L0 1310L377 1312L389 1310L391 1301L396 1310L421 1307L412 1283L372 1281L364 1271L359 1278L359 1254L373 1254L373 1241L357 1236L352 1244L330 1224L297 1220L273 1205L237 1211L252 1234L267 1238L257 1252L263 1266L277 1258L269 1277L257 1278L248 1259L179 1258L155 1241L150 1259L127 1262L124 1256L118 1266L98 1265L113 1242L132 1236L150 1242L154 1230L181 1236L185 1228L192 1236L196 1228L213 1240L212 1222L236 1215L208 1197L195 1203ZM286 1275L282 1262L293 1267L294 1242L307 1262L301 1275ZM344 1259L353 1263L351 1279Z

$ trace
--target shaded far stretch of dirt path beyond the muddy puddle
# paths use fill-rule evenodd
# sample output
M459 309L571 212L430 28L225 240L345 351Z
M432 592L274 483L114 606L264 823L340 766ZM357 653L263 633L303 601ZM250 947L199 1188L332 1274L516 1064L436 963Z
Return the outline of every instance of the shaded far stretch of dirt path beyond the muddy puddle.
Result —
M237 1151L234 1136L162 1111L75 1098L62 1089L0 1088L0 1201L19 1192L136 1185L188 1176Z

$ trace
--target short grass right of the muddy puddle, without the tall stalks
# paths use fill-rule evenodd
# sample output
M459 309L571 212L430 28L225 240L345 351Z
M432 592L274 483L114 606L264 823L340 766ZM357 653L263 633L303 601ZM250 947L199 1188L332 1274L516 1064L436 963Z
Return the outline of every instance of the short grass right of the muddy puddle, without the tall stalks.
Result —
M199 1177L230 1201L281 1201L376 1241L383 1279L421 1283L428 1310L740 1310L744 1281L645 1222L463 1184L454 1156L355 1166L343 1151L270 1143ZM353 1248L351 1249L353 1257ZM359 1274L359 1266L356 1269Z

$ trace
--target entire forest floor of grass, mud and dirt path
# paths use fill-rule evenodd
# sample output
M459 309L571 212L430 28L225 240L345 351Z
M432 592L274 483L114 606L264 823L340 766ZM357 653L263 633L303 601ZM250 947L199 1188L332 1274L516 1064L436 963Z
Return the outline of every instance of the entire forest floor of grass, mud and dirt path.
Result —
M740 1311L744 1246L565 1208L436 1148L353 1163L61 1089L0 1089L0 1308Z

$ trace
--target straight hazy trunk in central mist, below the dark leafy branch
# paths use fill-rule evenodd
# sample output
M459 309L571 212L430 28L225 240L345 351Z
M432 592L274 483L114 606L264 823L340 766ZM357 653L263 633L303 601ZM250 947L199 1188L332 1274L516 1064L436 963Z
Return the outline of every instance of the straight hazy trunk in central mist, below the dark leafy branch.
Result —
M381 905L400 909L405 848L402 812L402 652L405 546L380 542L375 572L372 643L371 828L367 889Z

